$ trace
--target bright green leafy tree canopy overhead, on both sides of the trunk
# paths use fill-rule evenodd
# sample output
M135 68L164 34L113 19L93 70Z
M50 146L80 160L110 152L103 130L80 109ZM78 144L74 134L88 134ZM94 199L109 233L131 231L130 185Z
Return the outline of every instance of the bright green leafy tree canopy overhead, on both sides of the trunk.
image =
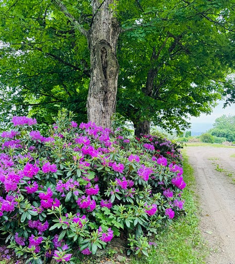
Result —
M75 27L51 0L0 3L1 119L29 112L51 123L66 107L86 120L91 2L64 1ZM181 130L229 94L234 69L234 0L119 0L117 112ZM4 110L3 110L4 109Z

